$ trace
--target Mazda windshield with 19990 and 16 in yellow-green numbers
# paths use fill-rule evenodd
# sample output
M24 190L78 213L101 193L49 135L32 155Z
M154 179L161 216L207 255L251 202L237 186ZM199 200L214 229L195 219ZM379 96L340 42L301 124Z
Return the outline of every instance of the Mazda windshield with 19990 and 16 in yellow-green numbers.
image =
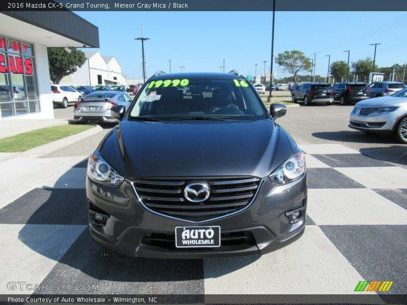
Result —
M246 80L201 78L150 81L138 96L130 116L248 120L267 117L258 94Z

